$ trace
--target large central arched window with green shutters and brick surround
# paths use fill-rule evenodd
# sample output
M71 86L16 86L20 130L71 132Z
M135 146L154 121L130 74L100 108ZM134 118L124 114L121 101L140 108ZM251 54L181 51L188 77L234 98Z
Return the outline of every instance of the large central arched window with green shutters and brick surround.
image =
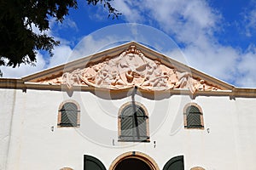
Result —
M148 112L143 105L129 102L120 108L119 141L149 141Z

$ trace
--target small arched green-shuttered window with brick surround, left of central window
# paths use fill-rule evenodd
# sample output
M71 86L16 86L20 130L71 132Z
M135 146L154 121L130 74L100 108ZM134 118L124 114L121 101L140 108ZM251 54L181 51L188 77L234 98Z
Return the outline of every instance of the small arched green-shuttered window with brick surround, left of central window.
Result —
M79 104L73 100L65 101L59 108L58 127L79 127L79 117Z

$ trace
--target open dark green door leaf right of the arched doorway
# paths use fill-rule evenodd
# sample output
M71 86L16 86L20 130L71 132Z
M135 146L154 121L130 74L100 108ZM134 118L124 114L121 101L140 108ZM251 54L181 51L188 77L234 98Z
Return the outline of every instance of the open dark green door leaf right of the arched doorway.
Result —
M167 161L163 170L184 170L183 156L172 157Z

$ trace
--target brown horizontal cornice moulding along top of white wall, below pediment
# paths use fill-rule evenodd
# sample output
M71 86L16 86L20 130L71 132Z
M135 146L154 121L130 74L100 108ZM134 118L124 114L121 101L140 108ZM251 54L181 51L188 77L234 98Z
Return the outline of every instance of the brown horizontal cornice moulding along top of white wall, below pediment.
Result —
M68 89L66 86L63 86L63 85L53 85L49 83L38 83L38 82L24 82L21 79L8 79L8 78L0 78L0 88L20 89L22 91L26 91L29 89L61 91L61 92L70 91L70 89ZM81 93L97 91L102 93L127 94L131 90L131 88L109 90L109 89L94 88L94 87L84 85L84 86L74 86L72 91L77 91ZM169 96L189 95L193 98L196 98L197 96L229 96L230 99L256 98L256 88L233 88L232 90L221 90L221 91L198 91L195 94L191 94L189 89L178 89L178 88L169 89L169 90L160 91L160 92L150 92L150 91L148 92L147 90L140 89L140 92L147 95L151 95L155 93L165 94L165 95L169 94Z

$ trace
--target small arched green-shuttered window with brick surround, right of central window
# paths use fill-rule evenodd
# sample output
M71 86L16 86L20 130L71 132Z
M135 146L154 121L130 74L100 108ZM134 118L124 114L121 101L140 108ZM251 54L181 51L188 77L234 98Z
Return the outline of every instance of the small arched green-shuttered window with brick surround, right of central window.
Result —
M204 128L203 114L199 105L190 103L184 107L184 127Z

